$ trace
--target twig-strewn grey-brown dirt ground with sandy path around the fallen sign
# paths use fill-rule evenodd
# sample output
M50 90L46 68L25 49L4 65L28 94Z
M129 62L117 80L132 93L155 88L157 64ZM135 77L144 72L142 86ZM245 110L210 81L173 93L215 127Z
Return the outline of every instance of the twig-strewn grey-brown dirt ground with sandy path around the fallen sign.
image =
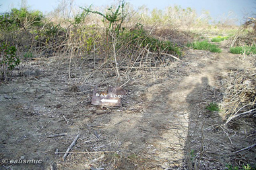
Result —
M254 57L255 58L255 57ZM81 58L80 58L81 59ZM254 69L255 59L189 50L166 67L131 72L117 83L115 68L93 60L53 56L23 63L0 85L1 169L226 169L256 164L255 124L222 128L228 73ZM129 80L129 81L128 81ZM128 82L127 82L128 81ZM91 105L95 85L123 85L120 108ZM224 106L223 106L224 107ZM62 136L51 136L62 134ZM75 136L79 138L63 161ZM11 160L42 163L11 163Z

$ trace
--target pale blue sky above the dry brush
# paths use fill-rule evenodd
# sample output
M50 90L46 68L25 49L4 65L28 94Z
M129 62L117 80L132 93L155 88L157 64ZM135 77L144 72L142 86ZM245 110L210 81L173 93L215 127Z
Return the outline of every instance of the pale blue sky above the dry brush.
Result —
M43 13L53 11L61 0L23 0L26 1L29 9L40 10ZM118 2L117 0L74 0L75 5L84 7L89 5L104 6ZM245 17L256 15L256 0L126 0L131 3L135 9L146 5L149 9L165 9L168 6L180 5L183 8L191 7L195 9L198 15L202 11L209 11L211 17L220 20L223 16L236 18L236 24L243 24ZM0 0L0 13L10 11L11 8L21 7L21 0ZM254 16L255 16L254 15Z

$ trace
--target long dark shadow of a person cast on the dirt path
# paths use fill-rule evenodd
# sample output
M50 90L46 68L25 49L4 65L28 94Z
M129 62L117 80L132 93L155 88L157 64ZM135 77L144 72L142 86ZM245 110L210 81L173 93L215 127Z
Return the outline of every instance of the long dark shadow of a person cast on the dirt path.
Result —
M222 93L210 85L207 77L202 77L201 83L195 85L191 93L187 95L186 101L189 107L189 128L186 141L188 169L209 169L207 166L212 164L214 167L214 163L202 157L214 157L216 160L221 160L218 155L224 149L221 143L228 142L220 133L222 132L220 129L222 118L219 116L217 103L222 101ZM216 111L206 109L210 103L215 105ZM216 155L209 153L216 153ZM223 166L225 167L224 163Z

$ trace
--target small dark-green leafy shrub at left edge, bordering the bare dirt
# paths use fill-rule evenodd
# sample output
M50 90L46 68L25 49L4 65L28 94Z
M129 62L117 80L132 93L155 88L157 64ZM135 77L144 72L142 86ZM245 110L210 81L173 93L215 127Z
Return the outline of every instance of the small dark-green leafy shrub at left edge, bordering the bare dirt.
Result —
M3 79L7 80L7 74L20 64L20 58L16 56L15 46L9 46L6 43L0 44L0 64L2 67Z

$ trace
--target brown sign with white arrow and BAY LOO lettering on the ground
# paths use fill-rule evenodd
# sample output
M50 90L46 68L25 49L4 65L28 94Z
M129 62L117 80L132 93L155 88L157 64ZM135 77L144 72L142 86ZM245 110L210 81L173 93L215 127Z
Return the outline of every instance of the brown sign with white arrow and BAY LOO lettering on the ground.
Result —
M125 90L122 87L108 87L108 91L98 91L96 86L92 94L92 104L122 106L121 99L125 94Z

